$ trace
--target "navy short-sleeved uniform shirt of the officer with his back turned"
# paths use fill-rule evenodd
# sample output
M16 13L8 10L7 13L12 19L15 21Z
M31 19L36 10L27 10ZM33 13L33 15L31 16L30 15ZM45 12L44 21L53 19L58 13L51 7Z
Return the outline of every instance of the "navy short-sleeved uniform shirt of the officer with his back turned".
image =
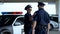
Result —
M34 21L37 21L37 25L48 25L50 22L49 14L42 8L34 13Z

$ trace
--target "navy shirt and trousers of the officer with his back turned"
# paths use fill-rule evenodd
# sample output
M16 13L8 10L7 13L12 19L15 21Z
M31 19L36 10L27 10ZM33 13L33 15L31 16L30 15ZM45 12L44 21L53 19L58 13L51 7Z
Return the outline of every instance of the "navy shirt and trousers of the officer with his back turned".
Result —
M47 34L49 14L42 8L35 12L34 21L37 21L35 34Z

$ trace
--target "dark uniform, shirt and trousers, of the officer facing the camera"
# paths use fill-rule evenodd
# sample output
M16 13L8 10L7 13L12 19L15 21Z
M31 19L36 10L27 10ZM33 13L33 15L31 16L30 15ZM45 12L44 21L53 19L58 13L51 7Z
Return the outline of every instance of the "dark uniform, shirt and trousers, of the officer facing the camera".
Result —
M31 17L32 17L32 15L29 14L29 13L25 14L25 20L24 20L24 31L25 31L25 34L31 34L32 20L29 20Z

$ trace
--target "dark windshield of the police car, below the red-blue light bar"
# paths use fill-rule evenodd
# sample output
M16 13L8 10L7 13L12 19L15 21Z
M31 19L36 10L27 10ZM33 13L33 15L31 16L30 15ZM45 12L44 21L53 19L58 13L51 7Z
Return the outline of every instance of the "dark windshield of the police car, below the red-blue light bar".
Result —
M2 27L2 26L12 25L15 18L16 18L16 16L14 16L14 15L2 15L2 16L0 16L0 26Z

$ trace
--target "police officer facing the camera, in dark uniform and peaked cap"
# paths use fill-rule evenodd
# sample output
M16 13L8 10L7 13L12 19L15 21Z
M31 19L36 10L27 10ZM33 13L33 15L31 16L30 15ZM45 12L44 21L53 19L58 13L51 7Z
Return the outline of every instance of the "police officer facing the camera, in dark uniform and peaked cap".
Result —
M25 10L27 11L27 13L24 16L24 31L25 34L31 34L32 30L31 30L31 25L32 25L32 15L31 15L31 11L32 11L32 7L30 5L27 5L25 7Z

